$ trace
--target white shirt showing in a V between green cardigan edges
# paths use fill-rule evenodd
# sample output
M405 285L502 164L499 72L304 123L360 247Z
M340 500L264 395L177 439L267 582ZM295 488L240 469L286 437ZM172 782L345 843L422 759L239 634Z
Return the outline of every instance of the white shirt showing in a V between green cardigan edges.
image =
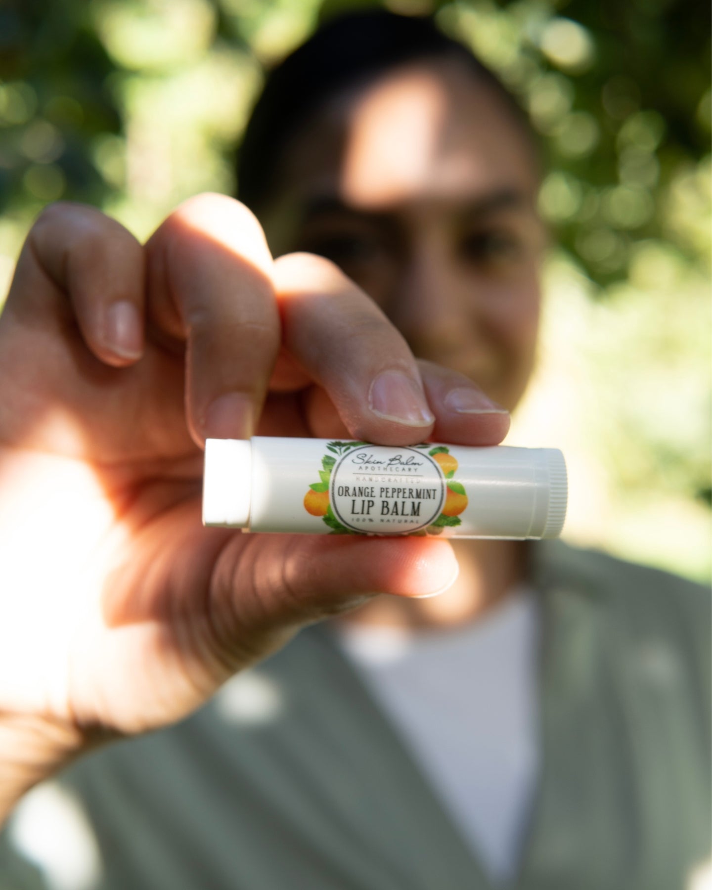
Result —
M517 588L445 631L337 638L490 877L514 876L538 778L538 603Z

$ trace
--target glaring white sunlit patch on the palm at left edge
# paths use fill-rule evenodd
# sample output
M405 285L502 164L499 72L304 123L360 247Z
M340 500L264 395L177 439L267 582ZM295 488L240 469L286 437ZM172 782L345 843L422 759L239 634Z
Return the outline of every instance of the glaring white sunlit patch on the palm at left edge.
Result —
M0 449L0 488L0 706L63 714L69 638L101 620L109 544L122 532L96 473L77 460Z

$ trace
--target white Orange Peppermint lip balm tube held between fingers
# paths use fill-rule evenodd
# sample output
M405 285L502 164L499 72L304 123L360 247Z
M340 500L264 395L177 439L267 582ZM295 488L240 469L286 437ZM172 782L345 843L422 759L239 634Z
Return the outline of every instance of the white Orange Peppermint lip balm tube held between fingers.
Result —
M250 531L555 538L558 449L208 439L203 522Z

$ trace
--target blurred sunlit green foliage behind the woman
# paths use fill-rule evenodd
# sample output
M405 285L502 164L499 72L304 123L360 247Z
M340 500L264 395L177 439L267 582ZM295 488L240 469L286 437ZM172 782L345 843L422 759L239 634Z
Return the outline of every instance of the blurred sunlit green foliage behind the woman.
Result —
M0 4L0 295L44 204L89 202L140 239L231 193L263 71L320 0ZM435 12L530 113L558 247L538 371L508 444L561 448L564 537L707 579L710 158L707 3L390 0ZM2 297L0 296L0 299Z

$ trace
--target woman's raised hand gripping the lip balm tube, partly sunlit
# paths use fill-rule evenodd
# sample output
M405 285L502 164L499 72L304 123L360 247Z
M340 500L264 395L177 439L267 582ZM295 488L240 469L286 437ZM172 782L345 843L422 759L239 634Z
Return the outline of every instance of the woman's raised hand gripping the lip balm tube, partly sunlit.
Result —
M273 263L230 198L191 199L145 247L89 207L45 211L0 317L0 814L304 624L454 579L443 540L202 528L207 436L497 444L508 415L478 401L334 265Z

